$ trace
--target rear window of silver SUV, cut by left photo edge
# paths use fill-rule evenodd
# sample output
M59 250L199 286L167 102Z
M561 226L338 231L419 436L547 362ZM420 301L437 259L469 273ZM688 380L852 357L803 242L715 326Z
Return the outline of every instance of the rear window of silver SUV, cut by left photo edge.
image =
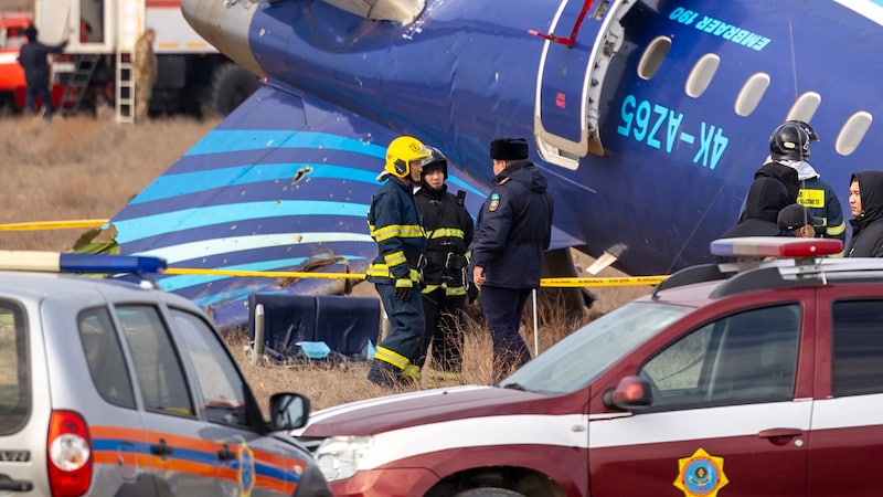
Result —
M26 338L21 309L0 303L0 435L19 431L31 410Z

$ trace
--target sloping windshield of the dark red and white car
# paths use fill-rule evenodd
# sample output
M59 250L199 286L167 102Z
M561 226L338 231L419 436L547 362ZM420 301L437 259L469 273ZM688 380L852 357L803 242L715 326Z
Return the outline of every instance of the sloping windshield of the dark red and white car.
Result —
M691 310L658 303L625 305L558 341L500 387L550 394L573 392Z

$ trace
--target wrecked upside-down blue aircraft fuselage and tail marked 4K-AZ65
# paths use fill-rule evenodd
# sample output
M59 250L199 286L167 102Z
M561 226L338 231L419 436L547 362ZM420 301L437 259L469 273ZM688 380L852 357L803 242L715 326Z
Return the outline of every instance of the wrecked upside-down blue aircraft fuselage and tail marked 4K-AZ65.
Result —
M182 0L190 24L264 87L111 222L170 266L362 272L386 145L443 150L476 215L488 144L529 139L555 247L634 275L711 261L773 129L810 123L809 161L843 211L883 157L880 1ZM560 251L558 251L560 252ZM560 255L550 253L550 257ZM166 275L242 321L254 292L331 279ZM222 325L223 325L222 322Z

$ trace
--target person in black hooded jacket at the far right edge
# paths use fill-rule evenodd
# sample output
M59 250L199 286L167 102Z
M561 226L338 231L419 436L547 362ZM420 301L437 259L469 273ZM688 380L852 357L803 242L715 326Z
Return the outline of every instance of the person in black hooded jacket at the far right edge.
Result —
M883 171L854 172L849 186L853 219L848 257L883 257Z

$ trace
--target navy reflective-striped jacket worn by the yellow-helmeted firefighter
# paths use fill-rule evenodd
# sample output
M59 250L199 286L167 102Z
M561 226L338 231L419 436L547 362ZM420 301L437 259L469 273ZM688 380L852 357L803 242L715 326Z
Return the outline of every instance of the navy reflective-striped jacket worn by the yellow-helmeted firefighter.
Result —
M426 233L411 186L390 177L371 199L368 228L377 242L377 257L369 266L366 279L396 287L418 287L418 264L426 248Z

